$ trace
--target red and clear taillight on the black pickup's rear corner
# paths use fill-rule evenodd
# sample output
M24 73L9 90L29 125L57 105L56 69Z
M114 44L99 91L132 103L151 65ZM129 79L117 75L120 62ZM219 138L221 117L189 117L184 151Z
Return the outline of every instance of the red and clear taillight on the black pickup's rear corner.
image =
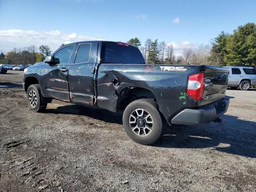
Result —
M201 100L203 92L204 73L190 75L188 78L188 95L195 100Z

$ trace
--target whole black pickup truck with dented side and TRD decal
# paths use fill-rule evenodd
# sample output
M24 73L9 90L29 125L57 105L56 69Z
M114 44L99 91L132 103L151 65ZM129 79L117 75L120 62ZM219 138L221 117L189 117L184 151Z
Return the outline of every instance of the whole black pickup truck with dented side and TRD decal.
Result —
M140 144L162 135L164 120L199 125L221 122L228 69L145 64L140 50L122 42L86 41L62 46L24 70L31 110L52 99L123 113L126 133Z

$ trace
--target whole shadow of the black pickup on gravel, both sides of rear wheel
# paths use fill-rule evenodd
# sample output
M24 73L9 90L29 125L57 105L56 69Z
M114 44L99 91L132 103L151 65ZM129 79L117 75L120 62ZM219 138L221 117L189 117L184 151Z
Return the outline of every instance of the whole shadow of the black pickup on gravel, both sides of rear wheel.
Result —
M46 109L46 113L76 114L108 123L122 125L122 114L79 105ZM167 124L167 123L166 123ZM222 115L222 123L203 126L164 126L163 138L152 145L161 148L210 148L245 157L256 158L256 122L240 120L236 116Z

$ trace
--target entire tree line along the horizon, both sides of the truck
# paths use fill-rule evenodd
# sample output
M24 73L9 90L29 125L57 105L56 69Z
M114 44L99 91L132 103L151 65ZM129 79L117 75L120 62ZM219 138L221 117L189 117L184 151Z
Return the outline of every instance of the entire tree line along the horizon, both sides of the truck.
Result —
M193 49L185 47L182 54L175 54L172 44L158 42L158 39L147 39L143 46L136 37L127 43L140 49L147 64L256 66L256 24L254 23L238 26L232 34L222 31L209 44L200 44ZM0 64L34 64L43 61L45 56L50 54L48 45L41 45L38 49L34 45L13 48L6 55L0 54Z

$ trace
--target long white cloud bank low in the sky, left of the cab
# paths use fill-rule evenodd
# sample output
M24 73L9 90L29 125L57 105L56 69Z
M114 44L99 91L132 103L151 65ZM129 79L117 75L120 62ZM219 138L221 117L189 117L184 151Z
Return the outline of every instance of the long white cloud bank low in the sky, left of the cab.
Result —
M102 40L97 36L77 35L76 33L65 34L56 31L33 31L33 30L0 30L0 50L5 53L12 48L35 45L49 45L51 50L56 50L62 43L68 44L77 41Z

